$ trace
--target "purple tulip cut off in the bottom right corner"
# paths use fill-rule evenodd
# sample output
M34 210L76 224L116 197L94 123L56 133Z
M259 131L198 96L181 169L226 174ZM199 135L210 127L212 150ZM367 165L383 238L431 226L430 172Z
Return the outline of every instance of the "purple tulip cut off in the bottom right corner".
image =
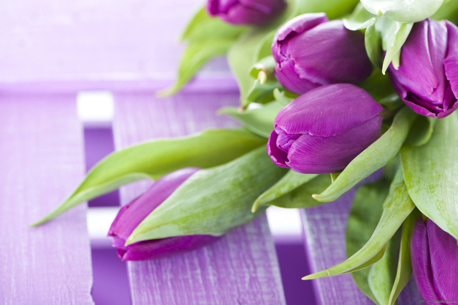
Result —
M431 219L424 223L419 217L410 239L410 256L424 300L458 300L458 245L452 235Z

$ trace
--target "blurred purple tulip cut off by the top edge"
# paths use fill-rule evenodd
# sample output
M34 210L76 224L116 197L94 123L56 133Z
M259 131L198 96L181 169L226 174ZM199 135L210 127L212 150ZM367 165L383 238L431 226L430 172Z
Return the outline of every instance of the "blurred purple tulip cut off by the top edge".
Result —
M232 24L262 25L285 6L284 0L208 0L207 12Z

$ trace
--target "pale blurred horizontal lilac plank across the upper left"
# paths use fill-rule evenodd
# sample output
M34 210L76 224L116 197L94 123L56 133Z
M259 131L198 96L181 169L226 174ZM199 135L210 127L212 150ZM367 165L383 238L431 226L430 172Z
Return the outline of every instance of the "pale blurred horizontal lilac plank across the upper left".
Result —
M15 0L0 4L0 82L169 80L190 0ZM38 59L38 60L37 60ZM226 65L218 68L227 75ZM213 73L213 72L212 72Z

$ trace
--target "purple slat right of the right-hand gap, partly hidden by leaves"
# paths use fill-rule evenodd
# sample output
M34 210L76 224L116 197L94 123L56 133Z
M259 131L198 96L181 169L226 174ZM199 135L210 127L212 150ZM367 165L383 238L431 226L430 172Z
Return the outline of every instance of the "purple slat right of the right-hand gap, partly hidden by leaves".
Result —
M334 202L302 210L305 247L311 272L332 267L346 259L345 229L353 201L352 189ZM321 304L370 305L373 302L356 287L350 274L312 280ZM421 300L413 278L398 298L399 305L414 305Z

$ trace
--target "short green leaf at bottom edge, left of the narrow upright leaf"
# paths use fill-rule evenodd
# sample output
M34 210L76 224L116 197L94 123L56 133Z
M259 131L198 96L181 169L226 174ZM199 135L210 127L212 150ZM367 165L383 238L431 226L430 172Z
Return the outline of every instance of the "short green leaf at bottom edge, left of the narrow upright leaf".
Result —
M388 304L391 289L396 278L396 265L399 256L401 230L388 241L387 251L375 264L369 268L367 282L378 304Z

